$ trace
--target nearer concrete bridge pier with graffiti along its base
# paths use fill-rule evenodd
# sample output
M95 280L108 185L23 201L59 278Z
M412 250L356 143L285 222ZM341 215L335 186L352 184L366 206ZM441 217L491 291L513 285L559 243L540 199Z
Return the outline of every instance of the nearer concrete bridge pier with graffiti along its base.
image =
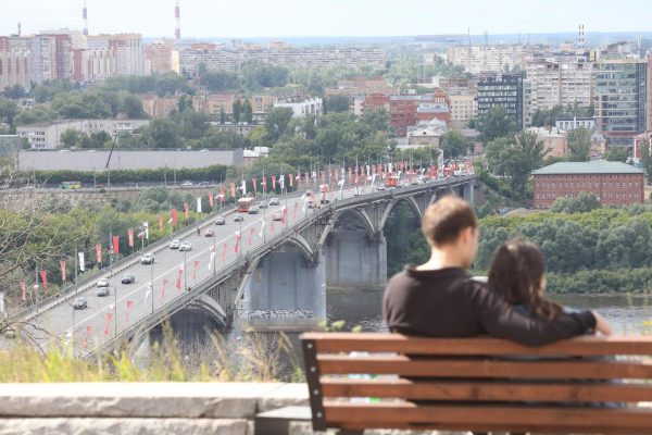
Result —
M238 326L305 330L326 320L324 263L287 245L263 257L244 283L235 312Z

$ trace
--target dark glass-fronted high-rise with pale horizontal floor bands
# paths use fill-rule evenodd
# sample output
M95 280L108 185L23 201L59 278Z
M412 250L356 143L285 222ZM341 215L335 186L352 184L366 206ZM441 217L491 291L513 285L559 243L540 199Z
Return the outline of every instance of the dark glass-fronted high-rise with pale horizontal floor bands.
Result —
M481 76L477 94L478 116L502 107L516 123L516 128L523 129L523 74Z

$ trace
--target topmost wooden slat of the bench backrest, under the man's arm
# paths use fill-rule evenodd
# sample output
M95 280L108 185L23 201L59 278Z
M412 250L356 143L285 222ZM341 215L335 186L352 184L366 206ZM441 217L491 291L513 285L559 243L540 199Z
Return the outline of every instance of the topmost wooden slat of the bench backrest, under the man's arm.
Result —
M422 338L400 334L306 333L318 352L399 352L410 355L475 356L652 356L652 337L582 336L541 347L522 346L499 338Z

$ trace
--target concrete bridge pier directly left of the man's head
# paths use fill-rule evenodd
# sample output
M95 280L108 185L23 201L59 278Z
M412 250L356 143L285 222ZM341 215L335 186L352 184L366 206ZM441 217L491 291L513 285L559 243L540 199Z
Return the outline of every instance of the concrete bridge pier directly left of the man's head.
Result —
M324 246L328 289L381 290L387 284L387 241L381 231L335 229Z

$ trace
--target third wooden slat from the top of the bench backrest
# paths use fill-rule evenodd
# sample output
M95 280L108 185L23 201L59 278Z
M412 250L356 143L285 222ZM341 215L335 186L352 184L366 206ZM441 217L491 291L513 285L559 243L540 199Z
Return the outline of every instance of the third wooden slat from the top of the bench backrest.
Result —
M429 382L323 378L324 397L380 397L413 400L638 402L652 399L652 385Z

